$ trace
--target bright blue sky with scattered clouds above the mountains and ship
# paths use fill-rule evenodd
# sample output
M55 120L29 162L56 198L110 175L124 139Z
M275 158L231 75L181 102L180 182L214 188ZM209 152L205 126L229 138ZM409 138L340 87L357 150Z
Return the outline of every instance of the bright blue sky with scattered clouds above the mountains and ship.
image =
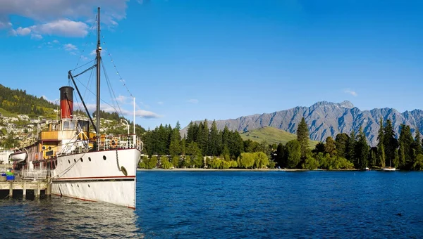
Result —
M132 110L111 58L146 128L317 101L423 109L422 1L6 0L0 84L59 98L68 70L94 59L97 6L115 96Z

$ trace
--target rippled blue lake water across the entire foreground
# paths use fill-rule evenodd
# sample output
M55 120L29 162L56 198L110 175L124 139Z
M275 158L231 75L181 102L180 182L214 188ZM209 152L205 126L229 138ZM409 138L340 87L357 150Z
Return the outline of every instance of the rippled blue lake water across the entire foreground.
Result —
M0 238L423 238L423 172L137 172L137 209L1 199Z

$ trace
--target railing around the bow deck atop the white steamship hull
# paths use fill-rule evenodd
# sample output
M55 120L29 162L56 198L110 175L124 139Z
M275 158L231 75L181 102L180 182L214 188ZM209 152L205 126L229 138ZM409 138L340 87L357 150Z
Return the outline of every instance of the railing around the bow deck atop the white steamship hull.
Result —
M134 136L135 134L124 134L97 138L98 150L139 148L140 138Z

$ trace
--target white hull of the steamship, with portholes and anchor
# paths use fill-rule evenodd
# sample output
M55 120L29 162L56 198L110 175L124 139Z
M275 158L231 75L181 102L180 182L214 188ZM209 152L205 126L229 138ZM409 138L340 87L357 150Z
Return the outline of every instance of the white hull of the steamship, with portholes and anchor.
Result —
M59 156L51 170L51 193L135 209L139 159L135 148Z

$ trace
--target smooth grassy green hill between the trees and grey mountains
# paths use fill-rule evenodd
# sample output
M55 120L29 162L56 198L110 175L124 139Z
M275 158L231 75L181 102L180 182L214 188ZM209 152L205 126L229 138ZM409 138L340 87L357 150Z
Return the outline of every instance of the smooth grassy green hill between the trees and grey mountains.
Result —
M251 131L246 131L241 134L243 140L250 139L261 143L266 141L267 143L283 143L286 144L288 141L297 139L295 134L290 134L287 131L281 129L276 129L274 127L264 127L259 129L253 129ZM309 141L310 148L314 148L317 145L317 141Z

